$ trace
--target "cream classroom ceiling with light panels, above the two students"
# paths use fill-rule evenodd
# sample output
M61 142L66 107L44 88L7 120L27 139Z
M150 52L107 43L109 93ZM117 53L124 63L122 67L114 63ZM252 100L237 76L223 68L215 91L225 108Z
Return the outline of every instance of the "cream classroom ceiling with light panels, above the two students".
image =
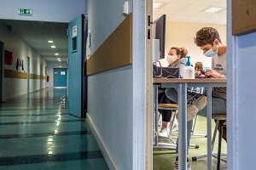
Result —
M226 25L226 0L153 0L162 3L153 8L153 19L166 14L166 20ZM221 7L218 13L206 13L207 8Z

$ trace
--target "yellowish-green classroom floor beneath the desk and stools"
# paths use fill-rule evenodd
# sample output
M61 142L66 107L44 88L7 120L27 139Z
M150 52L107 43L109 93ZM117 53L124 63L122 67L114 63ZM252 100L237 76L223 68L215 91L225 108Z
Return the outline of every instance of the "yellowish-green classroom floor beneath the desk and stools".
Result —
M215 122L212 121L212 133L214 131ZM197 122L195 134L205 134L207 133L207 119L206 117L199 116ZM177 137L177 132L173 133L174 137ZM214 153L218 151L218 135L216 137L216 142L214 146ZM168 140L164 140L164 142ZM192 170L207 170L207 158L201 158L197 161L192 161L193 156L201 156L207 154L207 138L201 136L192 136L190 144L198 144L199 149L190 148L189 149L189 163ZM227 144L222 140L222 153L226 153ZM172 170L173 164L175 162L177 153L175 150L170 149L154 149L153 156L153 169L154 170ZM223 156L226 158L226 156ZM212 169L216 169L217 159L212 158ZM227 169L227 163L221 161L221 169Z

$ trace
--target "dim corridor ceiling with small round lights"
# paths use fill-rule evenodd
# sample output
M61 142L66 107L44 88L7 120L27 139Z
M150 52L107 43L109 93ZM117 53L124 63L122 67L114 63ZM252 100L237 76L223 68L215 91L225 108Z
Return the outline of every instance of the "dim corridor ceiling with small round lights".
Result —
M67 23L31 20L3 20L3 22L47 61L57 61L57 58L67 61ZM49 40L53 42L49 43ZM51 48L52 45L55 45L55 48Z

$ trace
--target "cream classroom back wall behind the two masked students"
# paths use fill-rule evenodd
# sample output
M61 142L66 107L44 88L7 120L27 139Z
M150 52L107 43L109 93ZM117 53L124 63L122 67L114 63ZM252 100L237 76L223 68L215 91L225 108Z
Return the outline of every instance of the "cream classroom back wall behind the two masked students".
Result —
M202 51L194 43L194 37L196 31L200 30L204 26L212 26L216 28L220 34L220 38L223 43L227 42L226 25L210 25L201 23L184 23L184 22L172 22L166 21L166 55L171 47L184 47L189 51L190 62L195 65L195 62L203 62L205 67L212 67L211 58L202 54ZM161 59L168 65L166 59Z

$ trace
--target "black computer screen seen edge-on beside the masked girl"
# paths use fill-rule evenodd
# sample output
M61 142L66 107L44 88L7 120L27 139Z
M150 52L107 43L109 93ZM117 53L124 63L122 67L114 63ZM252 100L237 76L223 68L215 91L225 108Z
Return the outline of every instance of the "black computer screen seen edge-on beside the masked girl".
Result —
M165 58L166 47L166 14L153 22L153 39L160 40L160 59Z

